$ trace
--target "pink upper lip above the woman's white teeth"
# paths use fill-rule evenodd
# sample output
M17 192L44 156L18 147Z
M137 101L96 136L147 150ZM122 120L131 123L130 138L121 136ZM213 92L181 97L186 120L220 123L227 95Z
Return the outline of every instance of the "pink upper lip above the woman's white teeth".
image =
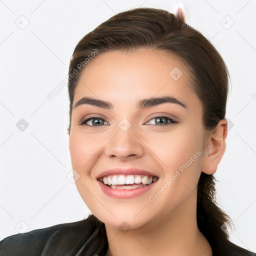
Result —
M148 170L143 170L137 167L114 167L100 172L96 178L98 179L108 175L148 175L158 177Z

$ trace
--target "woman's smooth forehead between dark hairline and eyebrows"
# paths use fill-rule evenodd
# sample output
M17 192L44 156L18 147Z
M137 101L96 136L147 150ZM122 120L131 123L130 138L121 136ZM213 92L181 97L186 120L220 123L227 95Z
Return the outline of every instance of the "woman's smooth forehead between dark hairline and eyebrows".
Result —
M76 85L73 104L82 96L119 103L160 95L198 101L192 83L189 69L173 54L156 49L110 51L87 63Z

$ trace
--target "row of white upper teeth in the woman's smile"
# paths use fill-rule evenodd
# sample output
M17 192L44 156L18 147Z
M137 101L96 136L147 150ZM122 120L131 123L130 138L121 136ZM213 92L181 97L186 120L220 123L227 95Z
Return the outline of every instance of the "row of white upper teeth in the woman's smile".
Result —
M108 175L100 178L104 184L108 185L124 185L124 184L151 184L157 177L148 175Z

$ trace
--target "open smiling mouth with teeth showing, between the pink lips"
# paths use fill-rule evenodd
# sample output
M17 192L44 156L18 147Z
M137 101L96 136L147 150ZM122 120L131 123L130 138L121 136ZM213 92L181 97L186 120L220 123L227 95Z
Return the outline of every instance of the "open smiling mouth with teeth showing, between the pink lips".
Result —
M149 175L108 175L98 178L104 185L114 189L135 189L148 186L158 179Z

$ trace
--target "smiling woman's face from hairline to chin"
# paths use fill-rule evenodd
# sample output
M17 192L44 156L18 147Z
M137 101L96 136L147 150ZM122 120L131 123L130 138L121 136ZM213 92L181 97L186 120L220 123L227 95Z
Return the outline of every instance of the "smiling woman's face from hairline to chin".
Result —
M111 108L83 97L107 101ZM160 97L169 101L154 99ZM187 214L196 205L205 134L201 102L179 58L155 49L98 55L74 91L69 150L77 189L98 219L117 228L123 221L137 228ZM105 172L112 168L117 170ZM147 173L134 168L150 172L149 181L144 178L149 183L150 174L157 180L143 185L139 178ZM142 187L110 187L99 176L110 184L135 178Z

